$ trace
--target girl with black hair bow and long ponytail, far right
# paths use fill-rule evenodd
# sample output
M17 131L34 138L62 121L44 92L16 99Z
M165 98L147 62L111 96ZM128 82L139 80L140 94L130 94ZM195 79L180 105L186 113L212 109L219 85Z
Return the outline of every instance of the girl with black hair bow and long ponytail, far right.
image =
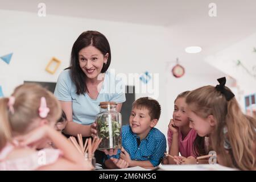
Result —
M226 78L217 86L203 86L188 94L190 126L201 137L210 136L217 162L242 170L255 170L256 120L242 113Z

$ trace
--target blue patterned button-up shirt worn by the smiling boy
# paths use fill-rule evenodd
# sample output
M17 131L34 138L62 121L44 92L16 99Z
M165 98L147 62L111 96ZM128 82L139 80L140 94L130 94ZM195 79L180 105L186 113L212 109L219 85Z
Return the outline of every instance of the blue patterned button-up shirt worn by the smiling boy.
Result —
M152 128L147 137L138 143L139 137L131 131L129 125L122 126L122 146L129 153L131 160L149 160L153 166L158 166L166 152L166 137L161 131ZM119 159L121 150L112 158ZM110 156L108 155L108 159Z

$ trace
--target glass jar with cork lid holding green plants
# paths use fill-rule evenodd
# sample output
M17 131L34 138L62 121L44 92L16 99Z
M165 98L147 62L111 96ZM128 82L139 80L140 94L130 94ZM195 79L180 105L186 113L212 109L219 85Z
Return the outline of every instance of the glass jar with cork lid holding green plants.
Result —
M102 138L98 150L119 149L122 146L122 115L117 112L116 102L101 102L96 115L97 134Z

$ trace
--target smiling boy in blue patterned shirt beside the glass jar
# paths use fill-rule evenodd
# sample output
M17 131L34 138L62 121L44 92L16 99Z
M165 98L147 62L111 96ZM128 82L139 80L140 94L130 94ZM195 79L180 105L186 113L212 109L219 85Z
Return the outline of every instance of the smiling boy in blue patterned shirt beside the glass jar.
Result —
M122 149L117 155L109 153L107 168L155 167L166 152L166 137L156 123L161 108L158 101L142 97L133 103L129 125L122 126ZM111 156L110 156L111 155Z

